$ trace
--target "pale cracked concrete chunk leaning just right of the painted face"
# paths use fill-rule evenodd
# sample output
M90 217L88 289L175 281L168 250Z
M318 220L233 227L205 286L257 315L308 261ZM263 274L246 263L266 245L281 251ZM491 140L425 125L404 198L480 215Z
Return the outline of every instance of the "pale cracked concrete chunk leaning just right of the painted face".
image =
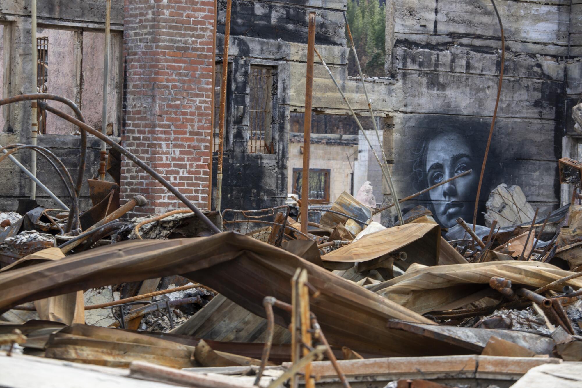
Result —
M491 192L485 203L485 225L491 227L493 220L497 220L498 227L520 225L531 222L534 217L534 208L526 200L526 196L519 186L501 184Z

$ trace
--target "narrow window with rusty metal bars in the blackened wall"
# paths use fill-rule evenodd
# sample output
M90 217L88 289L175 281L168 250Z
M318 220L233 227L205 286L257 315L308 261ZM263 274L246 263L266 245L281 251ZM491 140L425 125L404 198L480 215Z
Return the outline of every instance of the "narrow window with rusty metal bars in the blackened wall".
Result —
M272 82L272 68L251 65L249 74L249 153L275 153L272 136Z

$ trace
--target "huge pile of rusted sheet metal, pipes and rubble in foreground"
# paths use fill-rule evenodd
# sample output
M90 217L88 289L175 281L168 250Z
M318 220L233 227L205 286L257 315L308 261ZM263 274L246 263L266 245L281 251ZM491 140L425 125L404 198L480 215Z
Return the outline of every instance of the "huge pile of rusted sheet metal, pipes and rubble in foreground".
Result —
M65 387L509 387L546 371L553 386L580 369L564 362L582 362L578 161L559 162L569 205L540 216L500 185L486 225L445 230L425 207L397 205L471 170L380 209L366 182L360 200L343 192L329 208L203 212L107 136L38 104L189 209L127 219L145 197L120 204L119 182L94 179L80 209L83 168L77 184L65 168L68 209L22 200L2 213L2 386L66 375ZM392 206L398 223L386 227L378 216Z

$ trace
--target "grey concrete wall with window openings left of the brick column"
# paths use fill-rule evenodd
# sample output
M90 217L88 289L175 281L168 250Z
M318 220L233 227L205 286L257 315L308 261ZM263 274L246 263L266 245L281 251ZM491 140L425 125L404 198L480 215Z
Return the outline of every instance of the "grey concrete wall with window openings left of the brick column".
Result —
M37 0L37 18L37 25L40 33L43 31L62 30L65 32L66 36L72 38L74 44L74 47L70 47L70 45L67 44L66 48L71 50L71 52L83 51L83 33L95 35L100 34L102 36L105 24L105 0ZM31 93L33 90L30 61L30 22L29 0L0 2L0 24L3 26L3 61L0 63L3 68L3 97ZM117 41L119 43L120 39L116 40L116 38L121 36L123 30L123 0L112 1L111 28L113 36L112 42ZM41 36L40 33L38 36ZM119 47L116 46L113 48L113 54L115 54L116 48ZM84 108L90 110L93 109L93 107L83 106L83 96L82 93L80 93L80 88L83 82L81 77L87 73L87 77L90 76L91 78L84 80L85 86L89 87L90 84L95 86L89 87L87 91L96 88L98 89L102 81L101 75L99 75L98 82L94 79L94 77L97 77L97 73L95 72L83 72L81 58L84 57L83 62L86 66L93 64L95 67L102 67L102 54L93 52L92 50L87 50L87 47L82 54L83 55L78 55L78 57L72 55L72 57L53 58L53 64L54 66L62 64L67 68L70 68L70 65L73 64L73 89L77 90L75 88L79 88L79 92L77 93L77 91L73 90L73 93L66 97L71 98L71 100L81 108L81 111L84 112L86 111ZM112 57L120 59L120 53L118 54L119 55L116 57L115 55L112 55ZM100 61L101 63L98 63ZM112 71L110 71L110 74L111 73ZM113 73L116 73L118 76L121 75L120 69L116 72L113 71ZM68 75L70 74L68 73ZM122 81L122 78L116 80L116 82ZM55 85L55 87L62 87L62 85ZM114 91L115 84L112 84L110 88L110 90ZM71 91L72 90L68 90L68 92ZM93 93L97 94L98 91L93 91ZM101 96L101 94L99 94L99 96ZM87 103L87 100L85 100L84 103L85 105L89 104ZM109 105L111 107L111 112L116 111L119 114L119 110L115 110L115 105L118 104L120 107L120 103L120 95L116 97L112 96L112 102ZM60 103L51 104L70 112L68 108ZM90 122L91 125L101 125L101 103L99 103L98 111L98 123ZM30 103L17 103L3 108L3 126L0 129L0 144L30 143L30 112ZM86 118L88 117L91 117L91 114L87 114ZM119 119L120 116L112 116L112 122L118 121ZM57 121L54 123L56 122ZM38 145L52 150L56 156L61 158L66 167L69 168L70 174L75 177L79 165L80 137L73 134L74 129L72 127L62 124L63 123L60 123L59 125L55 124L55 132L53 134L39 135ZM116 130L119 131L118 126L116 126ZM119 139L119 137L115 137L115 139ZM98 168L100 142L98 142L94 137L90 137L88 139L88 147L85 177L91 178ZM15 154L15 157L25 166L30 166L29 150L19 151L19 153ZM61 197L63 202L68 204L69 200L65 186L61 184L60 179L55 174L54 170L52 170L52 167L39 157L37 169L38 178L41 179L41 181L44 182L57 196ZM16 210L17 199L19 197L26 198L29 196L30 179L20 172L20 170L8 159L3 160L0 164L0 209ZM50 199L48 195L42 192L38 187L37 200L38 203L44 206L57 207L54 201L52 201L52 199ZM81 192L80 201L81 209L87 209L90 200L88 199L88 188L86 185Z

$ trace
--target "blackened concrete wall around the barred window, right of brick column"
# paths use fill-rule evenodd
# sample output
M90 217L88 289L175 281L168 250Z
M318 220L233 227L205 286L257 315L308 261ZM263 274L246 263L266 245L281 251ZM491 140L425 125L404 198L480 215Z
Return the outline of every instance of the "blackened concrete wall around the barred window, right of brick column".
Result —
M225 1L218 2L217 61L222 62ZM345 64L344 1L232 2L222 209L261 209L285 202L288 193L289 114L303 112L307 19L317 13L315 44L333 64ZM276 80L273 111L275 153L250 153L249 72L271 66ZM302 86L301 86L302 85ZM230 94L227 93L227 96ZM316 93L317 94L317 93ZM217 105L217 104L215 104ZM215 128L217 128L215 124ZM216 149L215 149L216 151ZM217 156L213 168L216 179Z

